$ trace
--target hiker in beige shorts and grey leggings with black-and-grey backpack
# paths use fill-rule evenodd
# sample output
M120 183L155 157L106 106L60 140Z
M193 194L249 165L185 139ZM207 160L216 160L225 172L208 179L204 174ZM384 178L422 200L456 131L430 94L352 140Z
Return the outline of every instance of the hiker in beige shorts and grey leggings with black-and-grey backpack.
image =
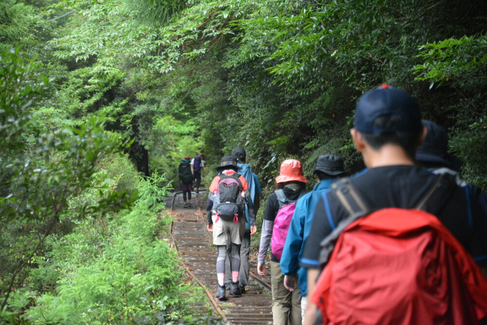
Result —
M255 226L254 205L250 197L249 187L244 177L237 173L241 167L233 156L224 156L220 166L216 168L220 174L209 187L206 203L207 229L213 232L213 244L218 248L216 271L218 291L216 297L225 300L225 259L227 245L230 245L230 270L232 284L229 294L240 297L240 245L245 234L244 201L248 207L250 218L250 235L257 231Z

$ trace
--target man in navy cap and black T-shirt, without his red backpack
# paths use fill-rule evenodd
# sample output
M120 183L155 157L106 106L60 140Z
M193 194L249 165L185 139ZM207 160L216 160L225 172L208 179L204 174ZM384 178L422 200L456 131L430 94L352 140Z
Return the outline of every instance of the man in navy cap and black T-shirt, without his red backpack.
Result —
M427 201L421 206L438 217L477 264L481 267L487 264L487 219L477 202L454 180L414 165L416 148L424 139L426 129L411 95L388 85L367 92L356 105L354 128L350 133L368 169L348 183L370 211L420 206L428 193L444 190L435 185L440 179L446 179L449 181L445 186L448 196L443 196L446 199L441 203ZM300 259L300 265L308 269L308 297L311 299L306 310L306 324L313 324L315 320L318 301L313 293L321 270L320 243L340 221L350 216L338 194L332 190L318 200ZM440 195L433 196L438 197ZM406 307L402 309L405 310ZM350 311L354 311L353 308Z

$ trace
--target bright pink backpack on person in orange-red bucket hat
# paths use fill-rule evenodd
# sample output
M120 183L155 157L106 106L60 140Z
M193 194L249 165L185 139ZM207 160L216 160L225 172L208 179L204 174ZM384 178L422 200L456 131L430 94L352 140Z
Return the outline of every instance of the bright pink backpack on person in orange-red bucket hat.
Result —
M301 192L300 197L304 194ZM294 210L296 210L296 201L286 198L284 191L277 190L277 201L279 202L279 211L277 212L276 219L274 219L274 228L272 229L272 241L271 249L274 256L281 260L282 250L284 249L284 243L286 241L287 232L289 231L289 225L293 218ZM300 197L298 199L300 199Z

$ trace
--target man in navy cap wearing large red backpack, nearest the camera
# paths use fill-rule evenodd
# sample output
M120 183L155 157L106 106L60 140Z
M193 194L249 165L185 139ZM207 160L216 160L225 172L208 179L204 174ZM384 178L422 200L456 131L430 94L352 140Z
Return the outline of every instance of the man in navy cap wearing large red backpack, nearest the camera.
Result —
M350 133L368 169L315 207L305 324L317 307L319 324L478 324L487 218L454 178L414 165L426 133L415 100L388 85L366 93Z

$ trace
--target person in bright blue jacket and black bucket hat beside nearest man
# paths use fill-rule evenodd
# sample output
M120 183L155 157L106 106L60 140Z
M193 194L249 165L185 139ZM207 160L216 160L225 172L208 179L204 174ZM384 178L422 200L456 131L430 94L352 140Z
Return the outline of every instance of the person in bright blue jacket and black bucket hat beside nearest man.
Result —
M296 203L289 232L287 233L284 250L281 257L281 271L284 274L284 286L289 291L294 291L299 285L301 291L301 316L304 324L304 310L306 310L308 276L307 270L299 266L299 260L304 248L304 242L309 235L313 211L318 198L327 191L333 181L345 177L343 161L334 155L323 155L318 158L314 171L318 178L318 184L312 192L305 194Z

